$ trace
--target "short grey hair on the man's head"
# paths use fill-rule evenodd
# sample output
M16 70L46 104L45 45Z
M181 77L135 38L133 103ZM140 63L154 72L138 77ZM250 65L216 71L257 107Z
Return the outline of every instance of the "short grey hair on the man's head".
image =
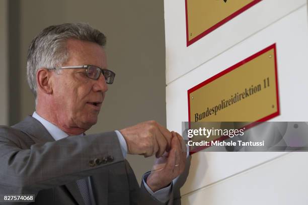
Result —
M105 46L106 37L85 23L66 23L49 26L31 42L27 57L27 80L31 91L37 96L36 73L40 68L56 68L68 60L67 39L90 41Z

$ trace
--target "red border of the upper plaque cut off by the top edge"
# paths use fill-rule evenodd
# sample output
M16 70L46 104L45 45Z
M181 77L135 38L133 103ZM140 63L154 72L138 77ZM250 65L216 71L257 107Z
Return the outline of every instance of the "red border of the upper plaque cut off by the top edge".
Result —
M221 25L225 24L226 22L230 21L231 19L235 18L236 16L240 15L241 13L245 12L246 10L248 10L249 8L251 8L252 6L254 6L255 4L261 2L262 0L255 0L251 3L249 3L248 5L246 5L245 7L242 7L241 9L239 9L238 11L236 11L235 13L231 14L230 16L224 18L223 20L221 20L220 22L218 22L217 24L215 24L214 26L210 27L209 29L205 30L204 32L202 32L201 34L199 34L198 36L196 36L195 38L191 39L190 41L188 40L188 11L187 11L187 1L185 0L185 15L186 15L186 46L190 46L191 44L195 43L196 41L198 41L199 39L201 39L202 37L206 36L207 34L209 34L210 32L214 31L215 29L217 29L218 27L220 27Z

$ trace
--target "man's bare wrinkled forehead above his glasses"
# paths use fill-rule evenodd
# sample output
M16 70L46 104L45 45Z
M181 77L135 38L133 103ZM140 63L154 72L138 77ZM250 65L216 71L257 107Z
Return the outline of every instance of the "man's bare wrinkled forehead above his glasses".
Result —
M66 41L68 60L65 65L96 65L107 68L107 56L102 46L90 42L76 39Z

